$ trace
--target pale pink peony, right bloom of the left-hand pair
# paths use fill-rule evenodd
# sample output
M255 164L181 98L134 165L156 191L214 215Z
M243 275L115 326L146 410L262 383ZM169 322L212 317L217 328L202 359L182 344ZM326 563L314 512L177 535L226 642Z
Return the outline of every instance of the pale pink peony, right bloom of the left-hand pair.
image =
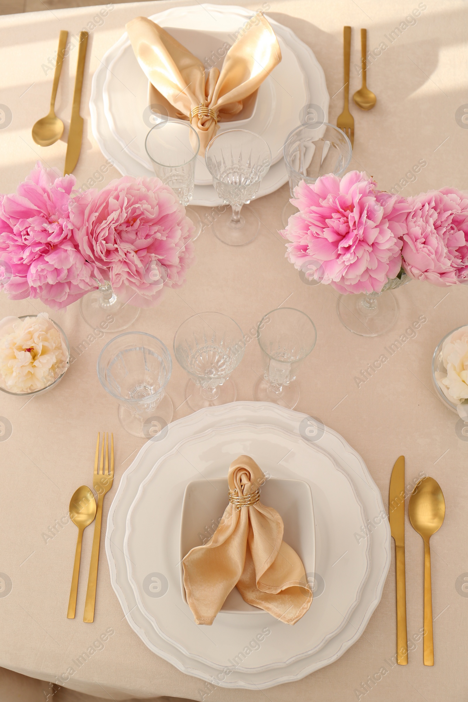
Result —
M159 178L124 176L88 190L70 219L83 256L132 305L153 305L163 285L181 285L194 258L194 225Z

